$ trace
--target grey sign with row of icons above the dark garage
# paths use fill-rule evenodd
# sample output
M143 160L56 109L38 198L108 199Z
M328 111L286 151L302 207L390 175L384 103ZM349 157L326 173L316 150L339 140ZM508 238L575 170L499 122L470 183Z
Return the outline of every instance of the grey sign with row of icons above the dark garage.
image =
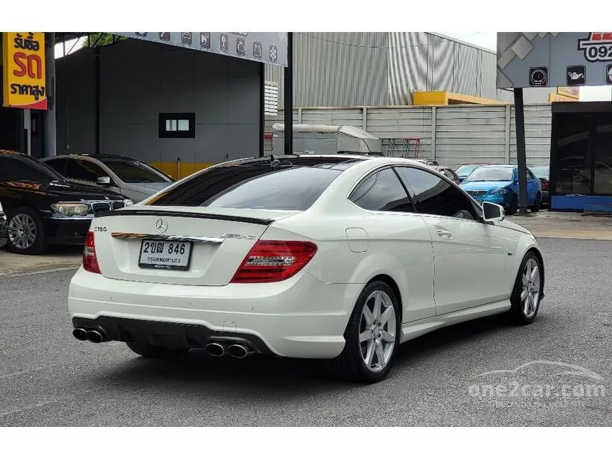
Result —
M118 35L287 67L287 32L121 32Z

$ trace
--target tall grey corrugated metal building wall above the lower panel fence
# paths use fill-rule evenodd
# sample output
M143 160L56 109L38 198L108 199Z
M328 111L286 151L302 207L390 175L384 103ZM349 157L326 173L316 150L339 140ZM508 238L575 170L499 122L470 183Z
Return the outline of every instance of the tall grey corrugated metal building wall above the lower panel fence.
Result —
M413 91L507 100L495 88L495 53L427 32L294 33L294 105L410 105ZM283 68L266 65L279 84Z

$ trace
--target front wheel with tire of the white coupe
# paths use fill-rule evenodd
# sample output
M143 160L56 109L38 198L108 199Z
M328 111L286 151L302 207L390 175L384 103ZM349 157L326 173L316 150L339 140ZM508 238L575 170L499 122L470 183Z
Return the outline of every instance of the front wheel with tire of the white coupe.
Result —
M533 252L524 256L510 297L510 316L517 325L535 320L542 300L542 263Z

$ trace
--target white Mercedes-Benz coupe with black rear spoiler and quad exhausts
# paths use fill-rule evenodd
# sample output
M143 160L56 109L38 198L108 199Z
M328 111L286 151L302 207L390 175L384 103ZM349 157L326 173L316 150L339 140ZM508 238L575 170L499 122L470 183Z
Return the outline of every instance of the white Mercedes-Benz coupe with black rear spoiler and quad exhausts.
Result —
M218 164L98 213L70 282L73 335L144 357L327 359L381 381L399 344L544 297L534 236L410 159Z

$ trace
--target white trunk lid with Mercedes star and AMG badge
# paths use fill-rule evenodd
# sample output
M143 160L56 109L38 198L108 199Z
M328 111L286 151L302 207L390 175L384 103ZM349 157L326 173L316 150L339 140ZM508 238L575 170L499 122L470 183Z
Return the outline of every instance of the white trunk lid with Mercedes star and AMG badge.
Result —
M98 214L91 229L106 278L226 285L266 228L295 213L299 211L131 206ZM172 263L187 266L167 268Z

